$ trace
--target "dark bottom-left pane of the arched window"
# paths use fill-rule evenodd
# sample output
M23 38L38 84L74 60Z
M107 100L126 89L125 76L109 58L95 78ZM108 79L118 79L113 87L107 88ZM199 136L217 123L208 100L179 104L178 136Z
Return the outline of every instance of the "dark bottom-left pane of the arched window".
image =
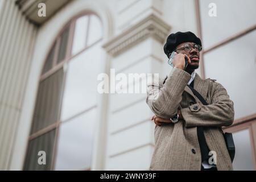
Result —
M49 131L48 133L31 140L28 143L27 156L24 163L24 170L50 170L53 155L53 144L55 140L55 130ZM38 164L39 151L46 152L46 165ZM42 158L41 158L42 159ZM40 160L42 162L43 160Z

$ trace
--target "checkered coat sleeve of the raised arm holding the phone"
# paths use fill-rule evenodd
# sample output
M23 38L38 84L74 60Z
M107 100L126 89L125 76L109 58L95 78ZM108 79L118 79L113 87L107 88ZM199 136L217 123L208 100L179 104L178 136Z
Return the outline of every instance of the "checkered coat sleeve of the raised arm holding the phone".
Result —
M147 86L147 105L161 118L172 118L177 113L182 93L191 75L182 69L173 68L165 84L159 80Z

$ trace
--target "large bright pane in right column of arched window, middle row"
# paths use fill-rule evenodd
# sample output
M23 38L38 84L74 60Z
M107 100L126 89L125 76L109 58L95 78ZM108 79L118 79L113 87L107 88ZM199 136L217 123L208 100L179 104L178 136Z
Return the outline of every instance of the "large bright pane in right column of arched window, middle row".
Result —
M101 42L86 49L68 63L61 121L96 105L100 61Z

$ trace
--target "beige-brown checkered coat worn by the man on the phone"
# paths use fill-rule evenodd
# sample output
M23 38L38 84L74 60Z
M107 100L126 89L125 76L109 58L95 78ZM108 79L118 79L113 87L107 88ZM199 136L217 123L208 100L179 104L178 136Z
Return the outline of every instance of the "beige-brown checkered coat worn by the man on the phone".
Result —
M221 84L209 78L203 80L196 74L194 88L209 105L201 104L187 86L190 78L189 73L174 68L165 81L152 81L147 87L146 102L153 113L162 118L171 118L180 107L184 117L177 123L155 126L155 150L150 170L200 170L197 126L205 126L208 147L217 154L217 169L232 170L220 127L232 125L233 102ZM192 149L196 151L195 154Z

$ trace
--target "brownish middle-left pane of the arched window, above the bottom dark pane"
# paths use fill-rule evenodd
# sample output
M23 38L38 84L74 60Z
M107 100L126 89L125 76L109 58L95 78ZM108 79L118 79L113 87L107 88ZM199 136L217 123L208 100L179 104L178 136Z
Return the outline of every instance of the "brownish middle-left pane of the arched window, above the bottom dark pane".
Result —
M63 69L40 82L31 133L35 133L59 119L62 89Z

